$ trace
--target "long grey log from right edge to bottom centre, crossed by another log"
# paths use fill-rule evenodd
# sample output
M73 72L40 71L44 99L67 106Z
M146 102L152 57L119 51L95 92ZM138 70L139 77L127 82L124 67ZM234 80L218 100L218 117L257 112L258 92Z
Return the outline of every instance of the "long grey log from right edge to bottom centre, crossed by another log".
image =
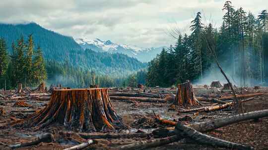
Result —
M191 124L189 125L189 127L199 132L206 132L206 131L211 131L213 129L217 129L217 128L220 128L220 127L232 124L232 123L237 123L237 122L244 121L244 120L262 118L262 117L267 117L267 116L268 116L268 110L262 110L262 111L242 113L242 114L237 114L237 115L233 115L229 117L217 118L211 121ZM155 132L155 133L158 133L158 132ZM117 150L144 150L147 148L164 146L164 145L177 142L183 139L183 137L175 135L174 131L168 131L167 133L161 132L159 136L165 136L164 134L166 135L173 134L173 135L167 138L140 141L134 144L121 146L121 147L118 147Z

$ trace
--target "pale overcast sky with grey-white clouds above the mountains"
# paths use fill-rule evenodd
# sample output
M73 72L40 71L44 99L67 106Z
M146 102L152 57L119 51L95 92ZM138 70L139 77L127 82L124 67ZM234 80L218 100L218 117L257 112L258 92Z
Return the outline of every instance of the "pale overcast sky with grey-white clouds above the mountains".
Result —
M170 45L170 29L188 33L203 12L204 24L220 26L225 0L0 0L0 22L36 22L73 38L100 38L141 47ZM268 0L232 0L257 15Z

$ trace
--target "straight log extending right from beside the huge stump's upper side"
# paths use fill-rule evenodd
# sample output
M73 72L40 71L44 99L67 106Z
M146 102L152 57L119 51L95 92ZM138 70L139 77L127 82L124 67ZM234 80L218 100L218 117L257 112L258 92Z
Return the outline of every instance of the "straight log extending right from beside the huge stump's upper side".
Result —
M112 100L122 100L122 101L140 101L140 102L153 102L153 103L166 103L166 99L157 98L145 98L145 97L126 97L126 96L110 96Z

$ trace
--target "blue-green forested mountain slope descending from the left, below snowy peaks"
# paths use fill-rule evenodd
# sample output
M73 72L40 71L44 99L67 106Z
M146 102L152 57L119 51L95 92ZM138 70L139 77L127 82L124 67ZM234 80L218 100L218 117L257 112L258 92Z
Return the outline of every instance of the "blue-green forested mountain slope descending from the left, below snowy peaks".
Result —
M123 54L98 53L83 50L73 38L46 30L36 23L0 24L0 37L6 41L9 54L12 53L12 42L18 38L26 39L32 35L34 47L40 46L46 61L68 62L82 70L96 74L130 74L146 67L146 64Z

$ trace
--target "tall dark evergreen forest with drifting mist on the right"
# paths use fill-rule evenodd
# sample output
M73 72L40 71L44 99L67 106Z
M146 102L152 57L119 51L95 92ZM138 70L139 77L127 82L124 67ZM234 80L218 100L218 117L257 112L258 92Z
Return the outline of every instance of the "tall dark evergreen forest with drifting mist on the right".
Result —
M190 79L208 84L223 76L215 64L237 86L267 84L268 79L268 12L258 16L234 8L226 1L219 29L204 25L201 12L191 22L190 35L180 35L174 46L163 49L148 64L147 85L167 87ZM214 49L216 58L209 48ZM226 80L223 80L226 82Z

